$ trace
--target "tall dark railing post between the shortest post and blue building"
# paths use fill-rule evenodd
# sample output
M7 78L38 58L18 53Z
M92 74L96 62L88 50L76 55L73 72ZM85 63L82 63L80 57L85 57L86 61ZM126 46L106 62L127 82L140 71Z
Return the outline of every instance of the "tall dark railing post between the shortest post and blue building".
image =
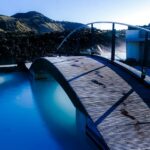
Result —
M112 41L111 41L111 61L115 60L115 38L116 30L115 30L115 23L112 23Z

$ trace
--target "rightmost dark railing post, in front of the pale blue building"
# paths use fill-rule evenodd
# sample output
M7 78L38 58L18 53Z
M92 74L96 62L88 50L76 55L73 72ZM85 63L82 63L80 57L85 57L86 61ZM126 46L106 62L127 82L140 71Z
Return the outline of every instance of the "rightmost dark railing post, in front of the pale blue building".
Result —
M148 32L145 33L144 40L144 49L143 49L143 58L142 58L142 66L141 66L141 78L144 80L146 76L146 63L147 63L147 55L148 55Z

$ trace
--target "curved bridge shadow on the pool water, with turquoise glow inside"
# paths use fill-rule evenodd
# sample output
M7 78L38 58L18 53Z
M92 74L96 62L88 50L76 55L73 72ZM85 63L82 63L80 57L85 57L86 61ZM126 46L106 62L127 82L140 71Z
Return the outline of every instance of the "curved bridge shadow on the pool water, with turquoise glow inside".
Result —
M31 86L49 134L60 149L94 149L84 133L85 116L74 107L58 82L49 76L46 80L32 81Z

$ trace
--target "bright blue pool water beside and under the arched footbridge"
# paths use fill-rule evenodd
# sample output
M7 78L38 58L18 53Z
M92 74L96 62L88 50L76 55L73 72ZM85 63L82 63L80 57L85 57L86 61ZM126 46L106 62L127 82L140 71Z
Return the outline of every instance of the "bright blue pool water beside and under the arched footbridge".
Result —
M30 84L26 74L0 74L0 150L94 149L80 120L53 78Z

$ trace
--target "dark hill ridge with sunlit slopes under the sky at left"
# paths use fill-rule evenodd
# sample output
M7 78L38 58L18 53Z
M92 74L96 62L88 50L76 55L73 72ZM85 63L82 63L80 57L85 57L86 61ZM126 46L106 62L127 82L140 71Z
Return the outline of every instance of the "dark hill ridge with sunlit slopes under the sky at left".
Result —
M65 21L55 21L36 11L30 11L27 13L17 13L12 16L0 15L0 32L61 32L64 30L73 30L81 25L83 24Z

